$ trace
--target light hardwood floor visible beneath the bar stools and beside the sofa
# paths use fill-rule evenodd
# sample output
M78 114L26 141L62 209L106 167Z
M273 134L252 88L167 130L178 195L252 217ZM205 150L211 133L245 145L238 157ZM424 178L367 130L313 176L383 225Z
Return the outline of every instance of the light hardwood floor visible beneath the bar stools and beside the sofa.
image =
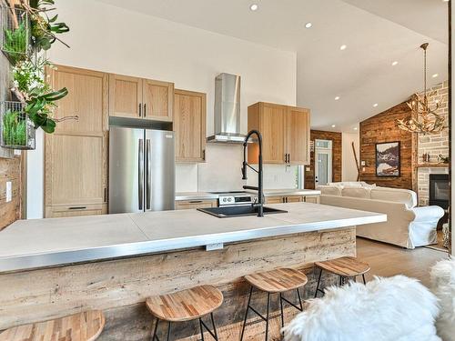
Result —
M448 253L427 247L407 250L399 246L390 246L369 239L357 238L357 256L362 262L371 266L367 281L371 280L373 276L405 275L418 278L423 285L430 286L430 267L440 259L446 258ZM286 309L285 324L291 321L297 313L298 311L293 308ZM268 340L281 340L279 314L274 313L272 316L274 318L270 320ZM239 340L241 327L242 324L235 324L218 328L219 340ZM262 320L258 318L248 319L244 340L262 341L265 339L264 333L265 323ZM205 339L210 339L207 333ZM197 341L200 340L200 336L192 336L185 340Z

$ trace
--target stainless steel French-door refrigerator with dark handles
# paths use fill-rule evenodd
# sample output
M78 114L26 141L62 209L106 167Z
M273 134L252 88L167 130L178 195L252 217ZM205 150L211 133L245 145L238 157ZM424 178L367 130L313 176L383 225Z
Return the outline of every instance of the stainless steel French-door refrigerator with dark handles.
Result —
M174 133L111 126L109 213L174 209Z

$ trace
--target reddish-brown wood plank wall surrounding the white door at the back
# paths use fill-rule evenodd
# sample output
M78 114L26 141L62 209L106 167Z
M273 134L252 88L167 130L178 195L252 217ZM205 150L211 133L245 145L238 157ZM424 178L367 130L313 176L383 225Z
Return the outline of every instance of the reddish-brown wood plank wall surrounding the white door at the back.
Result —
M311 130L310 139L314 141L316 139L320 140L331 140L332 141L332 182L341 181L341 165L342 165L342 141L341 133L336 132L325 132L322 130ZM305 166L305 188L314 189L315 188L315 153L314 148L310 153L310 165ZM309 171L307 168L309 167Z

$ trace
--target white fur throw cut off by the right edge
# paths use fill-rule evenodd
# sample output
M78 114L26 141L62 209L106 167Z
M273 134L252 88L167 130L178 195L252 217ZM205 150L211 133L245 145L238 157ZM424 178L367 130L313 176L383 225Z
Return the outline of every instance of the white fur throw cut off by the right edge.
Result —
M442 260L431 268L431 285L440 299L438 335L444 341L455 341L455 258Z

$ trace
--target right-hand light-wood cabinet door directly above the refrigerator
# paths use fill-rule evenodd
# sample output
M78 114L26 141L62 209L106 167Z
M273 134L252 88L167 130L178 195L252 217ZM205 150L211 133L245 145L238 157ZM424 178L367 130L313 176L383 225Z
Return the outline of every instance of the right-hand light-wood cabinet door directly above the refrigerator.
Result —
M172 121L174 84L144 79L143 103L145 118Z

